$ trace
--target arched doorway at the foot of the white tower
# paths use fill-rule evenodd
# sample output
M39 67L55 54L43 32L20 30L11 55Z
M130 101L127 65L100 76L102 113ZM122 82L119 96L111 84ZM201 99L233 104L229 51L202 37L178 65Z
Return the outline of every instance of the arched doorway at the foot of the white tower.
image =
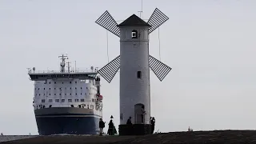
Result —
M142 103L134 105L134 123L141 124L145 122L144 109L145 107Z

